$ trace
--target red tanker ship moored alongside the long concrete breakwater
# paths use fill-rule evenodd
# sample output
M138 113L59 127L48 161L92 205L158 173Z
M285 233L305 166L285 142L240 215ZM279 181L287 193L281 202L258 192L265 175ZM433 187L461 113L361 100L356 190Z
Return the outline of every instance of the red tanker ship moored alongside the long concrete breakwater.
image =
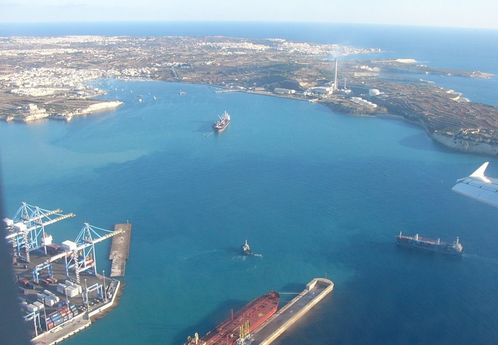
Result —
M273 291L260 296L201 339L197 333L194 338L188 337L184 345L234 345L275 314L279 300L280 295Z

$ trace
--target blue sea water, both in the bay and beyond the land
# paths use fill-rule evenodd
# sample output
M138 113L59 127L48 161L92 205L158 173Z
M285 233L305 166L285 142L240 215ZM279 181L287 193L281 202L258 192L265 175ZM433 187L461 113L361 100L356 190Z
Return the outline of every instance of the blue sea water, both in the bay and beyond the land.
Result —
M12 34L283 37L498 72L497 31L296 23L21 28ZM471 100L497 103L494 78L434 78ZM495 157L453 152L413 124L308 102L215 94L205 85L98 83L109 90L103 98L124 104L70 123L0 122L7 214L21 201L75 212L50 226L58 241L74 240L83 222L133 224L120 306L67 344L181 344L270 289L301 291L325 275L333 293L277 344L498 342L498 213L451 191L484 161L498 176ZM208 137L224 110L230 127ZM401 230L460 236L466 252L455 259L397 248ZM240 255L246 238L260 255ZM97 247L99 271L109 272L108 245Z

